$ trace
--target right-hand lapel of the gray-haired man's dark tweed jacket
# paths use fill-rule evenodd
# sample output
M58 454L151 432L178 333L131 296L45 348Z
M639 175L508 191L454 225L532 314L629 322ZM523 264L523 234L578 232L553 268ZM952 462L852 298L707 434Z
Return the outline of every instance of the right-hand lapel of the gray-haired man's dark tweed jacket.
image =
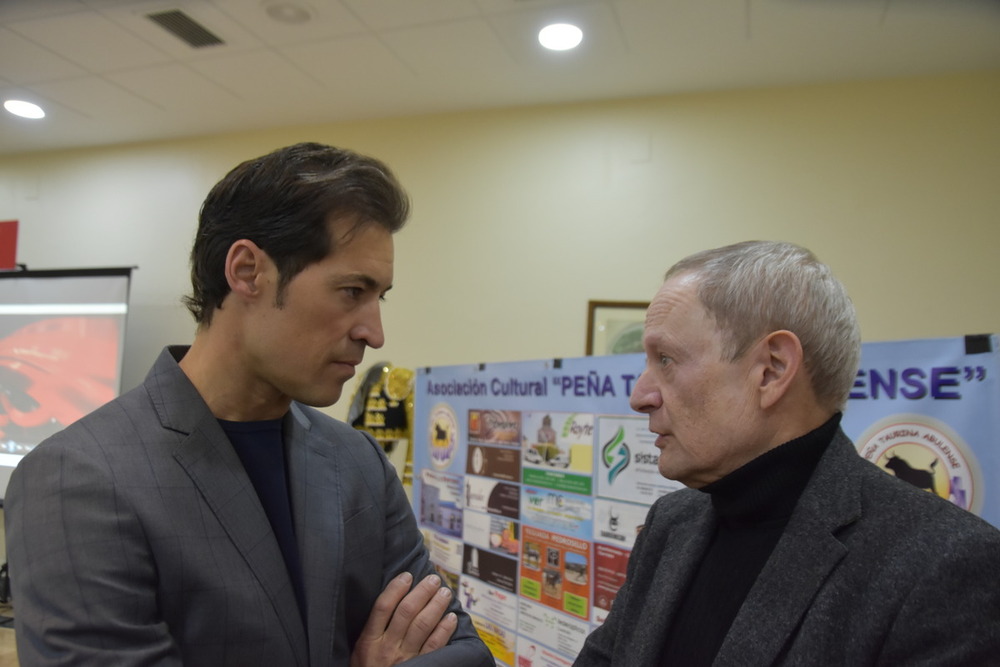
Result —
M842 465L846 456L857 453L838 431L733 620L715 667L740 667L747 655L760 658L755 664L774 664L827 576L847 555L836 532L861 515L861 481Z

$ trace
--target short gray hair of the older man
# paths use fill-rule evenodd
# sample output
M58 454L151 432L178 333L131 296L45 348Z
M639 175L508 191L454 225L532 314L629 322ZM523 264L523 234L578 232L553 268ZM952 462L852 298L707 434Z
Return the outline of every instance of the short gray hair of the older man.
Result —
M746 241L682 259L665 276L694 274L698 298L723 335L723 353L738 359L772 331L802 343L813 391L842 410L861 359L861 330L843 284L816 256L792 243Z

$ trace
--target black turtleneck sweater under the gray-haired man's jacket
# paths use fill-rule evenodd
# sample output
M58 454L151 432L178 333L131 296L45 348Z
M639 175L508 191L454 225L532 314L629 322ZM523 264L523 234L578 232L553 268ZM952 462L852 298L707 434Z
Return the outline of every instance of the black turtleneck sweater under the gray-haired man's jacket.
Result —
M840 414L701 488L715 533L667 630L660 664L711 665L840 424Z

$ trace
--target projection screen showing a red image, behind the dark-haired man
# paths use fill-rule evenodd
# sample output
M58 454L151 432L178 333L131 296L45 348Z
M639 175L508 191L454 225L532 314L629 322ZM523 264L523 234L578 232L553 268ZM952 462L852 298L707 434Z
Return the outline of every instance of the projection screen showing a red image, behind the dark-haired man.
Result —
M130 275L0 273L0 503L22 456L121 391Z

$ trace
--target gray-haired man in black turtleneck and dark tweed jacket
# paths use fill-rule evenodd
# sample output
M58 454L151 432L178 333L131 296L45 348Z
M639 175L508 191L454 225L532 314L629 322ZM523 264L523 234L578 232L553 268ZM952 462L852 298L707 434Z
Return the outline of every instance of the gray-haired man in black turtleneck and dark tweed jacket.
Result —
M650 509L577 667L1000 664L1000 531L840 429L860 340L804 248L738 243L667 272L631 405L689 488Z

